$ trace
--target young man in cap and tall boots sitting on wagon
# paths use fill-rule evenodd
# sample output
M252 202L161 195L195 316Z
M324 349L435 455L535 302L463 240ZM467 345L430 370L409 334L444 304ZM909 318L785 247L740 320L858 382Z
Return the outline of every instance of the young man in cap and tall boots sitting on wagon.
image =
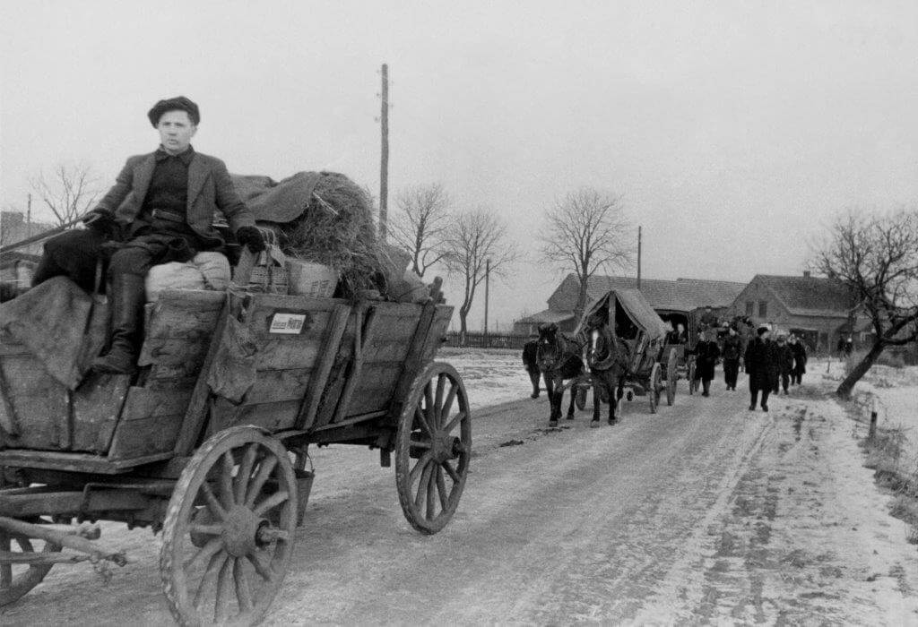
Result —
M107 267L112 331L108 352L96 358L100 372L136 368L144 279L152 266L185 262L224 241L214 213L227 216L236 240L252 252L264 249L252 212L242 203L226 165L191 146L201 116L185 96L161 100L147 114L160 147L130 157L112 187L89 214L88 228L53 237L35 271L33 285L67 276L84 290L95 283L96 262Z

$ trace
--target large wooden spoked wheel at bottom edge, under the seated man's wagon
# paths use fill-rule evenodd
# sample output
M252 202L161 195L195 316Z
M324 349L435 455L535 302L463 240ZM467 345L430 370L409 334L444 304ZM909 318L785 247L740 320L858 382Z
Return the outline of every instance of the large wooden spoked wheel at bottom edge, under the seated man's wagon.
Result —
M285 447L233 427L197 449L162 526L160 576L184 625L252 624L284 580L297 527L297 480Z

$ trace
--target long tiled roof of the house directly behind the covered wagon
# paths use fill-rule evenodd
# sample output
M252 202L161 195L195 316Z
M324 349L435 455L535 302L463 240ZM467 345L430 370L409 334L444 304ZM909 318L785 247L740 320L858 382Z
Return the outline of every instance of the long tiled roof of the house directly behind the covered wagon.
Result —
M745 286L746 283L733 281L642 279L640 292L654 309L690 312L707 305L728 307ZM599 299L613 290L633 289L637 289L637 279L634 277L591 277L587 284L588 301Z

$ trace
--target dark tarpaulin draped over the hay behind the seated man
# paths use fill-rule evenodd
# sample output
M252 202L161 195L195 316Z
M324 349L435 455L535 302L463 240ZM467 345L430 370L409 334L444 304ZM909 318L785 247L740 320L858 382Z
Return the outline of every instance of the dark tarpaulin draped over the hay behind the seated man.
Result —
M267 176L232 174L231 178L255 220L284 224L306 211L321 176L321 172L297 172L279 182Z

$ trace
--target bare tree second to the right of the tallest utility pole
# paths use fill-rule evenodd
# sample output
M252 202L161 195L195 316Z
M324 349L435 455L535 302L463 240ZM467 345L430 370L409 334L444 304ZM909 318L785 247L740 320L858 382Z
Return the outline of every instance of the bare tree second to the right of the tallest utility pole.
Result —
M443 261L451 274L463 280L463 302L459 305L459 342L465 345L466 319L475 301L478 285L485 280L490 259L491 274L504 277L520 253L507 236L507 226L492 212L481 208L456 214L445 234Z

